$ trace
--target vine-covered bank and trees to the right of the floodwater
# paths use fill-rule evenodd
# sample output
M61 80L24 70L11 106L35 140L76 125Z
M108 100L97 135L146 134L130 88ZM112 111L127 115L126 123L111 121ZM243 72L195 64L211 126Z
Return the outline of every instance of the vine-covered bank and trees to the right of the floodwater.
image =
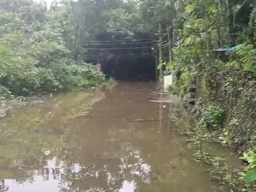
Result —
M175 75L170 90L181 95L185 105L191 103L187 98L194 100L192 111L201 119L198 127L208 128L204 130L230 148L246 151L256 145L256 3L180 3L173 57L166 66L167 73ZM234 51L217 50L237 45Z

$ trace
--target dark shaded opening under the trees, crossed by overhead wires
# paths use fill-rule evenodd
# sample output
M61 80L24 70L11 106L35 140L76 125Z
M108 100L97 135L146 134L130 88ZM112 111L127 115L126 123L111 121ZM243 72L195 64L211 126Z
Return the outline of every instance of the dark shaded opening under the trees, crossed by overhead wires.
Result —
M148 34L139 34L132 40L102 34L96 41L87 44L85 60L100 63L107 78L120 81L155 80L154 46Z

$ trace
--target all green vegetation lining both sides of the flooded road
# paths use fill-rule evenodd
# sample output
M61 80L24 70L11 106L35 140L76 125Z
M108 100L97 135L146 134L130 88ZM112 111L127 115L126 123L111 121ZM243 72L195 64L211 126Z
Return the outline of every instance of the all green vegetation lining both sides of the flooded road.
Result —
M255 20L255 0L2 0L0 102L101 85L104 74L85 55L127 50L88 43L147 37L158 69L174 75L170 90L198 118L194 131L244 153L243 178L254 181Z

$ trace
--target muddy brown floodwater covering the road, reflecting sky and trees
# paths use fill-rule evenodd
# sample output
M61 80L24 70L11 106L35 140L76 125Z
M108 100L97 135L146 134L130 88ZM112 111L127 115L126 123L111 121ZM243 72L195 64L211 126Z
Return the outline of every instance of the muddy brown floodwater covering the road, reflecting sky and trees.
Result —
M182 127L168 117L181 115L177 106L156 84L120 83L113 90L59 94L17 110L1 120L0 187L214 192L210 176L177 134Z

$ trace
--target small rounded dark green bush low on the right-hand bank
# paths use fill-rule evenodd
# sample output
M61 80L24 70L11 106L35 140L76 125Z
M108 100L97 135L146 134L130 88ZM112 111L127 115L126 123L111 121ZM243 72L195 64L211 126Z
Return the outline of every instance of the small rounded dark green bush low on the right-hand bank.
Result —
M203 109L199 126L203 128L219 128L224 121L224 110L216 105L210 105Z

